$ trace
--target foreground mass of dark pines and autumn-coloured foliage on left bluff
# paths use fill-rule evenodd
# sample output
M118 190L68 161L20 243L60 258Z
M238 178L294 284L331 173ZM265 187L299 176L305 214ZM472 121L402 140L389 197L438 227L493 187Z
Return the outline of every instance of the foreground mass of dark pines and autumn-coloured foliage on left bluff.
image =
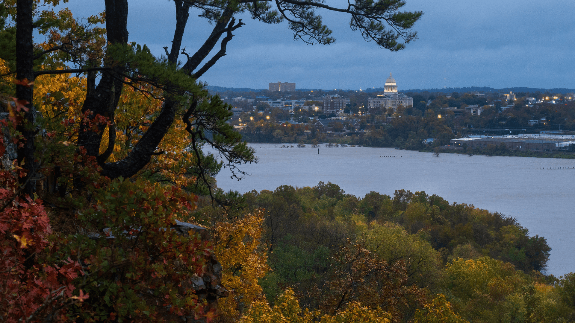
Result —
M263 299L260 213L208 221L215 245L173 230L177 220L195 220L192 191L213 197L222 167L241 178L236 165L256 161L226 122L231 106L198 78L244 25L238 14L287 20L296 39L330 44L335 39L318 13L339 11L366 40L397 51L416 39L411 28L421 13L399 11L399 0L347 7L175 0L174 37L166 56L155 57L130 42L127 0L105 0L104 12L84 19L55 11L60 2L67 1L0 4L2 319L209 321L214 311L190 280L206 274L214 254L235 292L221 306L228 318L241 316ZM186 30L192 9L213 25L203 44L182 44L193 32ZM206 145L222 161L202 151Z

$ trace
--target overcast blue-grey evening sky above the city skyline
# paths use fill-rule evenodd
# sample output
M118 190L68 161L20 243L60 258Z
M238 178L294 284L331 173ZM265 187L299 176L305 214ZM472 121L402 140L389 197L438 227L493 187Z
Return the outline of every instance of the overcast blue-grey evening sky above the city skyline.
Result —
M325 13L336 43L294 41L287 24L243 20L221 58L201 80L224 87L267 89L269 82L296 82L298 89L383 87L389 72L400 90L488 86L575 88L575 1L406 0L405 10L423 10L419 39L399 52L367 43L349 28L349 17ZM347 1L327 0L329 5ZM70 0L75 16L95 14L104 0ZM174 2L129 1L129 41L156 55L171 46ZM319 11L321 13L321 11ZM198 48L211 28L190 14L182 45ZM193 17L193 18L192 18ZM180 57L184 59L185 57Z

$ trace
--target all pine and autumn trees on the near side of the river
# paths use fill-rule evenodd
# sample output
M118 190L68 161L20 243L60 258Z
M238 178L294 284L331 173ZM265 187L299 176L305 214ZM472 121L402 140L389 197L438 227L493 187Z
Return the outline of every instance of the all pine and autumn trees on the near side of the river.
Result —
M198 82L237 15L329 44L320 13L337 11L398 51L422 14L404 1L175 0L165 57L129 42L127 0L86 20L59 2L0 5L3 321L573 321L573 275L543 276L546 240L499 213L330 182L212 203L222 167L240 178L236 165L256 161L231 106ZM213 25L196 52L182 50L191 9Z

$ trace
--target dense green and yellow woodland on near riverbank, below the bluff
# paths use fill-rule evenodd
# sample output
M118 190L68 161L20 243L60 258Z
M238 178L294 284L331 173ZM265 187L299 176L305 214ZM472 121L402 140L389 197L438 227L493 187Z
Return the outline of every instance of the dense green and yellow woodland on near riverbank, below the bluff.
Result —
M235 214L237 221L246 210L263 211L258 250L269 271L258 278L262 291L270 304L297 300L292 306L304 310L298 320L306 322L305 311L340 313L354 302L385 309L396 322L428 322L438 306L444 309L438 319L453 315L449 322L575 318L573 274L541 274L551 249L545 238L503 214L423 191L360 198L329 182L253 190L243 198L247 209ZM218 214L204 205L196 216ZM431 300L435 309L424 305ZM255 320L254 312L246 315Z

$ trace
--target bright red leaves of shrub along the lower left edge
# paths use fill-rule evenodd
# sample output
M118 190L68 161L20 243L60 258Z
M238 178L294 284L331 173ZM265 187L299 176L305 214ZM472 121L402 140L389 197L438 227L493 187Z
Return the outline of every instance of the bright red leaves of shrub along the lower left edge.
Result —
M64 307L87 297L72 295L82 268L70 258L44 263L53 247L48 216L39 200L18 196L19 189L13 173L0 171L0 317L9 323L65 318Z

